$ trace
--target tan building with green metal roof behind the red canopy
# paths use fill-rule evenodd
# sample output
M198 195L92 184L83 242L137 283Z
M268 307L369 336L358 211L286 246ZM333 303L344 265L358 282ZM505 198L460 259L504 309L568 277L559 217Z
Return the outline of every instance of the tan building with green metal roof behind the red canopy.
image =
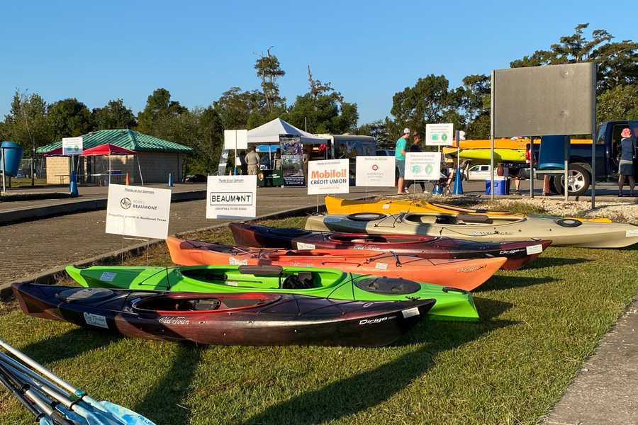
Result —
M136 152L135 155L111 155L112 169L122 175L128 173L132 183L140 181L140 169L145 182L166 182L169 173L174 181L180 181L184 157L193 152L191 147L129 129L98 130L82 136L84 149L105 144ZM61 156L62 140L39 147L37 152L47 157L47 183L68 183L70 161L69 157ZM82 181L97 181L97 176L108 172L108 159L106 155L80 157L78 175ZM138 166L135 166L136 159Z

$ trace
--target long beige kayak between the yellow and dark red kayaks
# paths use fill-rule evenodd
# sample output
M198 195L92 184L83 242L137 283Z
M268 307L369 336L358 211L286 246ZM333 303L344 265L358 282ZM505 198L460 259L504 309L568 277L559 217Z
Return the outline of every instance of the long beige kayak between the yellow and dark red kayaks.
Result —
M488 217L408 212L385 215L311 215L306 229L320 232L368 234L427 234L471 241L508 242L550 239L554 246L622 248L638 243L638 226L625 223L582 222L575 218Z

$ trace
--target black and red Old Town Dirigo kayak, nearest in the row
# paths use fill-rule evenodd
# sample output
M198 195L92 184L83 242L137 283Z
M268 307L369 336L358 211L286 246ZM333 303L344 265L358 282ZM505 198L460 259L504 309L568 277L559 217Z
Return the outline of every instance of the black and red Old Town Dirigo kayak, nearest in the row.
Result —
M170 293L14 283L25 314L124 336L218 345L385 346L435 300L361 302L286 293Z

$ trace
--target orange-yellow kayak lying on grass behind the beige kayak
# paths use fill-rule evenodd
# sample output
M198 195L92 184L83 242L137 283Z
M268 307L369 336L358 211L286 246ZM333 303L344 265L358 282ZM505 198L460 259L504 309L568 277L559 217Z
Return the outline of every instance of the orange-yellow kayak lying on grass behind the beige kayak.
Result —
M432 203L412 199L349 200L326 196L325 209L328 214L356 214L359 212L379 212L381 214L401 214L403 212L439 212L442 214L480 214L488 217L525 217L509 211L483 210L480 208L464 208L446 203ZM608 218L581 218L586 222L610 223Z

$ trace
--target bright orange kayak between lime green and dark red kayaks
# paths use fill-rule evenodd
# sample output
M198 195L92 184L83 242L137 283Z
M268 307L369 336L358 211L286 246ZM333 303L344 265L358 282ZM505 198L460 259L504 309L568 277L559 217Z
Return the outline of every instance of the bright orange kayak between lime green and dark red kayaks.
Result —
M181 266L213 264L338 268L362 275L405 278L463 290L474 290L507 259L423 259L362 249L276 249L227 246L169 237L171 259Z

